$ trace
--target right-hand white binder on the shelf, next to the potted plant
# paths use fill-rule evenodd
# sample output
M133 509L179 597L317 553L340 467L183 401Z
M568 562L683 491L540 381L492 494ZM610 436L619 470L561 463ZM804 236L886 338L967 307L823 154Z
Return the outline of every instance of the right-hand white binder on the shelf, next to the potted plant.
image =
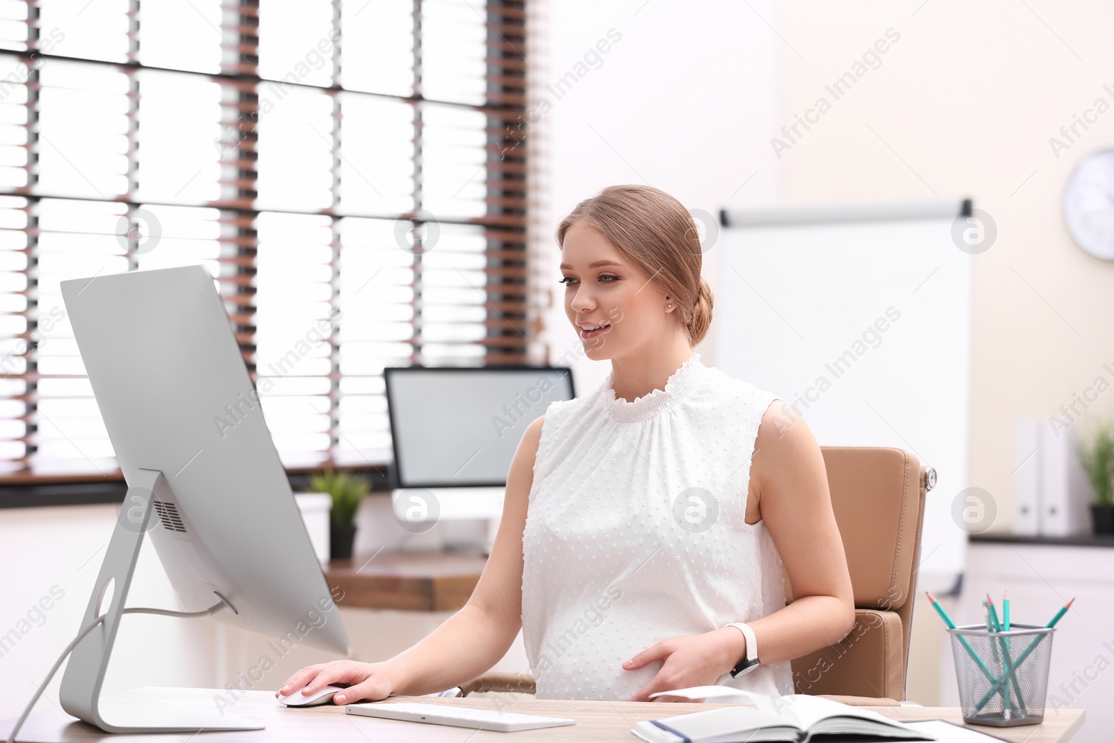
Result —
M1066 537L1091 529L1087 506L1093 498L1091 481L1075 454L1077 427L1053 430L1045 423L1040 431L1040 535ZM1058 436L1057 436L1058 432Z

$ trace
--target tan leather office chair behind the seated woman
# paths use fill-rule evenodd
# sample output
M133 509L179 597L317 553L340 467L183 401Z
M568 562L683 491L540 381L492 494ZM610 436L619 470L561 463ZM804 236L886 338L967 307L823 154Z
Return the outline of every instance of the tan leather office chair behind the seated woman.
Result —
M820 451L851 574L854 627L836 645L793 659L793 685L799 694L893 706L906 694L925 495L936 471L890 447ZM792 586L783 577L789 603ZM458 696L536 691L530 674L512 673L487 673L460 688Z

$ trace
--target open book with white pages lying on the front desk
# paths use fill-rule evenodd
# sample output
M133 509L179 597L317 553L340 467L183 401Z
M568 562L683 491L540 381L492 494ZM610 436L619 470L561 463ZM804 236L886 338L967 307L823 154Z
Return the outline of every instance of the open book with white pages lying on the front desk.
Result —
M936 740L871 710L808 694L768 696L731 686L690 686L651 694L663 695L732 706L639 722L631 732L647 743L799 743L813 735L854 736L857 741Z

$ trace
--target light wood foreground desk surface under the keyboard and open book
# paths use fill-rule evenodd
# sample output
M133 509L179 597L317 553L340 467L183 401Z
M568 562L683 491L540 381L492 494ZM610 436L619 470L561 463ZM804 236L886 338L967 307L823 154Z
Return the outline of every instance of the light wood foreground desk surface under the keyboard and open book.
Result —
M167 688L147 686L137 688L117 697L121 703L150 705L165 703L168 700L180 701L193 697L198 704L212 705L218 694L227 694L225 690L205 688ZM543 730L499 733L494 731L476 731L463 727L408 723L394 720L377 720L350 715L342 707L323 705L319 707L286 707L278 704L273 692L250 691L228 712L266 724L266 729L256 731L237 731L225 733L205 733L194 737L196 733L158 733L148 735L110 735L86 723L80 723L65 714L52 703L40 700L39 712L31 713L20 741L41 743L74 742L92 743L92 741L144 741L145 743L184 743L194 740L195 743L216 743L240 741L243 743L256 741L330 741L330 743L368 743L368 741L452 741L453 743L485 743L501 741L508 743L530 743L531 741L637 741L631 733L634 724L642 720L653 720L680 715L686 712L700 712L712 704L690 704L674 702L573 702L566 700L534 700L508 697L506 702L494 697L483 698L448 698L427 696L394 696L391 702L429 702L431 704L471 706L477 708L502 708L509 712L525 714L573 717L575 725L547 727ZM43 708L46 707L46 708ZM211 707L212 708L212 707ZM866 707L874 710L895 720L949 720L961 722L959 710L955 707ZM1047 711L1040 725L1024 725L1018 727L977 727L984 732L997 735L1016 743L1061 743L1067 741L1083 725L1083 710ZM7 740L14 723L6 720L0 723L0 740Z

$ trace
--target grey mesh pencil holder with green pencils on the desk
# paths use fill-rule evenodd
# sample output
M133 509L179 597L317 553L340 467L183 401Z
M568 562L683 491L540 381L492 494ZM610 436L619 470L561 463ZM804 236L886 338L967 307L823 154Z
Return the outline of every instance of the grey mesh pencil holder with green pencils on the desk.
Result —
M1044 720L1053 632L1026 624L1009 632L978 624L948 629L964 722L1006 727Z

